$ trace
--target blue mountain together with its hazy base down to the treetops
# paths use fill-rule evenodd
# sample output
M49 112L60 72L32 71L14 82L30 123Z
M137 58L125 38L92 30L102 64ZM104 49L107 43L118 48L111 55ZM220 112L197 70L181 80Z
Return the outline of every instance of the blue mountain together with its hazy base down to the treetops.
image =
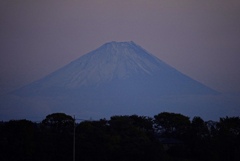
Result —
M99 119L162 111L211 118L226 114L229 100L219 95L134 42L113 41L13 91L14 101L2 102L6 111L18 107L15 113L29 118L52 112Z

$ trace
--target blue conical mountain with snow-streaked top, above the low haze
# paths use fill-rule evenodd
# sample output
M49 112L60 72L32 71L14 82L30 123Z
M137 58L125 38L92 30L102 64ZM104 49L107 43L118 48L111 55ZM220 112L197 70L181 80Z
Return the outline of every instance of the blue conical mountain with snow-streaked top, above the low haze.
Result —
M110 42L15 94L32 95L216 94L134 42Z

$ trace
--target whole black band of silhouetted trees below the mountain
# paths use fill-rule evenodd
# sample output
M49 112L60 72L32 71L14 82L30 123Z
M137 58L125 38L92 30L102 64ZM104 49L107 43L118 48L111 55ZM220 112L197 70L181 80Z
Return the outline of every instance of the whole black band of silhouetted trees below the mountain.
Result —
M64 113L0 122L1 161L238 161L240 118L218 122L162 112L74 123ZM74 130L75 129L75 130Z

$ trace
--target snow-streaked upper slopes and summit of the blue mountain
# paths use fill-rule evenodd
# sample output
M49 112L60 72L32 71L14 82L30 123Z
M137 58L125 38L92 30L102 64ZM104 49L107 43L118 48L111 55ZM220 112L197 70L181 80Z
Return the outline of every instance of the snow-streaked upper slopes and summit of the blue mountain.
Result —
M68 80L62 85L76 88L134 75L152 75L164 66L133 42L110 42L73 61L65 69L64 77Z

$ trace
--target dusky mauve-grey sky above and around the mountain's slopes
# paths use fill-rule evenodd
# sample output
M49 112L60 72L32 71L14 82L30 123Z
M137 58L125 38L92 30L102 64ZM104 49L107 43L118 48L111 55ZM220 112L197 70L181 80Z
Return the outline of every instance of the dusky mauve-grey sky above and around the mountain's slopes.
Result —
M0 0L0 93L130 40L213 89L240 92L239 0Z

